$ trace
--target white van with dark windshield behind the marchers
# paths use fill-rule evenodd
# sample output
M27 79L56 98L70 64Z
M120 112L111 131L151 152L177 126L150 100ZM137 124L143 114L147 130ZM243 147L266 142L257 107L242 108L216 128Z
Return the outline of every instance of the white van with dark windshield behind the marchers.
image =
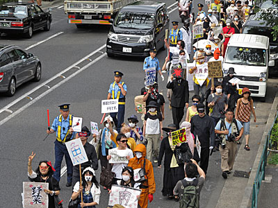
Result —
M234 67L240 79L239 92L248 87L252 96L264 101L268 82L268 67L275 65L269 60L269 38L263 35L234 34L229 40L223 63L224 75Z

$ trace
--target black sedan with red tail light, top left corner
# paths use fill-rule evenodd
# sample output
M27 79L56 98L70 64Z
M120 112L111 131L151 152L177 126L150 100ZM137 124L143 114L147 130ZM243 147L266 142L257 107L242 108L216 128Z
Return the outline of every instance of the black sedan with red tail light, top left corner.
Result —
M33 31L49 31L51 13L34 3L5 3L0 6L0 33L23 33L31 38Z

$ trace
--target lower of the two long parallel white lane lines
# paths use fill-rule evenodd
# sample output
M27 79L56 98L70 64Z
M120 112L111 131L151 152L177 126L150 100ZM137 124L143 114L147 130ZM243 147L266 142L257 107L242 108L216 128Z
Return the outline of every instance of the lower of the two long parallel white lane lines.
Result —
M21 113L22 111L26 110L27 107L33 105L35 102L39 101L41 98L43 98L44 96L46 96L47 94L49 94L50 92L54 91L54 89L56 89L57 87L60 87L60 85L63 85L63 83L66 83L68 80L70 80L71 78L74 78L74 76L79 75L79 73L81 73L82 71L84 71L85 69L87 69L88 67L90 67L92 64L95 64L95 62L101 60L101 58L104 58L104 56L106 56L106 53L100 55L98 58L96 58L95 60L93 60L92 62L86 64L84 67L82 67L79 71L76 71L74 73L72 73L70 76L68 76L67 78L65 78L64 80L60 81L60 83L54 85L53 87L51 87L51 89L48 89L46 92L40 94L38 97L34 98L32 101L30 101L29 103L27 103L26 105L20 107L17 111L15 111L13 114L11 114L10 116L6 117L5 119L3 119L2 121L0 121L0 126L3 125L4 123L6 123L7 121L9 121L10 119L12 119L14 116L16 116L17 114Z

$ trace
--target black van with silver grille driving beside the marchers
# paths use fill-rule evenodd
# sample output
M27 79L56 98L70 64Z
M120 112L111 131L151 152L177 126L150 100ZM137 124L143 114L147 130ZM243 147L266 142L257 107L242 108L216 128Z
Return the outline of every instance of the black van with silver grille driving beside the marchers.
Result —
M113 23L106 42L108 57L147 56L152 48L165 49L165 30L169 15L165 3L136 1L124 6Z

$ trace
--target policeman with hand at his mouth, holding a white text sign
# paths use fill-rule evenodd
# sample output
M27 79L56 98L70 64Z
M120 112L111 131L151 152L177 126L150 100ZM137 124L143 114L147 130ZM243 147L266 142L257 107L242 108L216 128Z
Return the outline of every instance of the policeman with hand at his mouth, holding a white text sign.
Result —
M114 82L111 83L108 91L107 100L109 99L118 99L118 112L111 113L111 117L117 128L117 132L120 132L121 125L124 123L124 105L126 102L126 84L122 82L122 76L124 74L120 71L114 71ZM117 117L116 117L117 116Z

